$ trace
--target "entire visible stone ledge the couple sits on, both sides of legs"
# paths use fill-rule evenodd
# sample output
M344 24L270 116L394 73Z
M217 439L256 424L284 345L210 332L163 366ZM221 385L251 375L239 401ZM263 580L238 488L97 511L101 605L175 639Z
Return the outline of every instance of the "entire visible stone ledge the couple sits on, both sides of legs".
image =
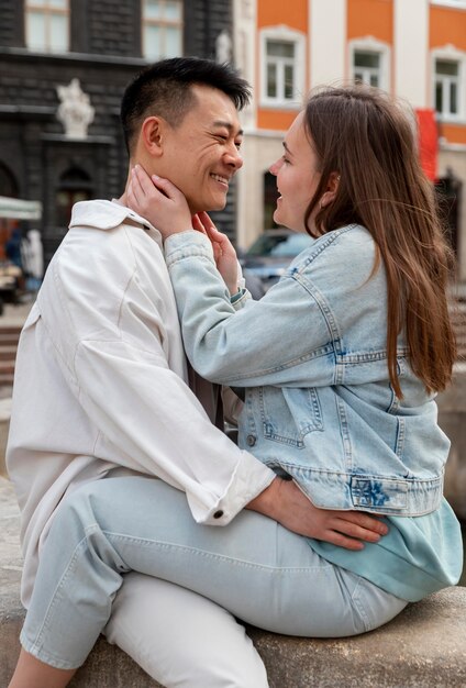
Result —
M24 612L19 601L21 555L13 491L0 478L0 686L19 654ZM448 588L409 604L391 623L352 639L303 640L248 632L270 688L464 688L466 588ZM162 688L103 639L70 684L74 688Z

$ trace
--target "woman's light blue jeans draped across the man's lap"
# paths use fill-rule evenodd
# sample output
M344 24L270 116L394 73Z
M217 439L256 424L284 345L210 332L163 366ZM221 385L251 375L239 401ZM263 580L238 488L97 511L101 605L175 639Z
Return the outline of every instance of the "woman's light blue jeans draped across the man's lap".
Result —
M58 668L80 666L130 570L290 635L363 633L407 603L329 564L304 537L258 513L243 511L226 526L199 525L185 495L162 480L104 478L59 507L41 552L23 647Z

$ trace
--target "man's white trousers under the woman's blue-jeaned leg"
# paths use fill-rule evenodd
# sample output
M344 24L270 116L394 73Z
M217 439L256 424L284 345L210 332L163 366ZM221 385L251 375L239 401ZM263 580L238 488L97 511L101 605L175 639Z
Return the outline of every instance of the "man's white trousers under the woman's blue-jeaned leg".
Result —
M166 688L268 688L244 626L166 580L127 574L104 634Z

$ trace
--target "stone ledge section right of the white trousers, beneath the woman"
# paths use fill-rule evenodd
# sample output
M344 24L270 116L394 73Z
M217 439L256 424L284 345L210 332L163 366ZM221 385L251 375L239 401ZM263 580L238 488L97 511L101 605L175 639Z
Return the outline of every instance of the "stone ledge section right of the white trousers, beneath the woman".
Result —
M387 625L352 639L248 632L270 688L466 686L466 588L448 588L409 604Z

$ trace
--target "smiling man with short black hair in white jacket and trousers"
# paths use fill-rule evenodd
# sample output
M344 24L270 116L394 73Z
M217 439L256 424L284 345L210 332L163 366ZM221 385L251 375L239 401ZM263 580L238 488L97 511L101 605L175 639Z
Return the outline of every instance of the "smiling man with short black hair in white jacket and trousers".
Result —
M245 81L225 66L196 58L154 65L123 97L130 167L170 178L192 214L223 208L242 165L237 110L247 98ZM210 423L187 381L157 230L125 207L124 193L77 203L18 355L7 460L23 517L26 607L60 501L91 480L157 476L212 526L245 507L296 532L314 522L318 510L292 482L278 481ZM76 651L73 626L71 614L64 656ZM233 617L170 584L126 575L107 635L165 686L267 686ZM64 669L56 683L48 663ZM65 685L67 666L78 664L38 662L23 650L11 686Z

